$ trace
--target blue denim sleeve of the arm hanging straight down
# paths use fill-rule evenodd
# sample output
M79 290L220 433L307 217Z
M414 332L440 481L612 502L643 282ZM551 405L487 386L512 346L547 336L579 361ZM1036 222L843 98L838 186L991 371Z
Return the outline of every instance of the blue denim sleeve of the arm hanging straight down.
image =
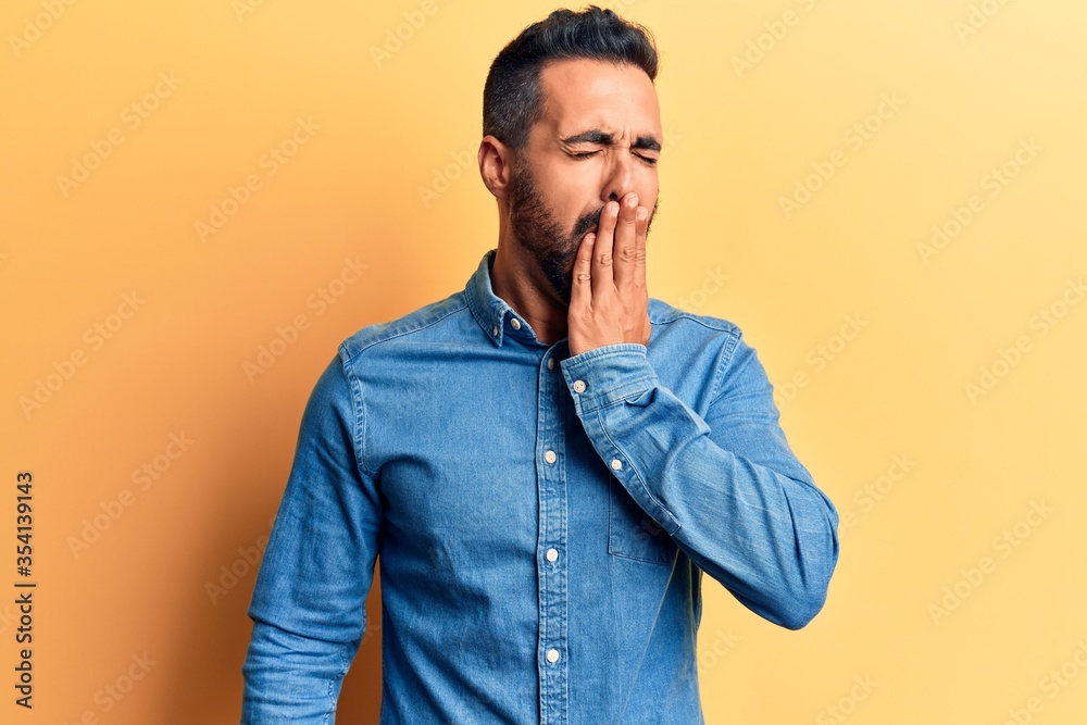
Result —
M333 722L362 639L382 511L360 464L352 385L333 360L302 416L249 607L243 725Z

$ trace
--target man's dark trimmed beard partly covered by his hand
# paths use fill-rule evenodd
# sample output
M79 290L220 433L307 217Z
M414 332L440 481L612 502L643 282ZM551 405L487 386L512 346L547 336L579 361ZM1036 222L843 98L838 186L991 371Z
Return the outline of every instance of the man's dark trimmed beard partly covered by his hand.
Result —
M582 237L597 228L603 209L604 205L601 204L596 211L583 214L567 233L544 201L544 195L528 168L518 167L510 179L510 225L513 237L566 307L570 307L574 258ZM647 235L655 215L657 203L649 215Z

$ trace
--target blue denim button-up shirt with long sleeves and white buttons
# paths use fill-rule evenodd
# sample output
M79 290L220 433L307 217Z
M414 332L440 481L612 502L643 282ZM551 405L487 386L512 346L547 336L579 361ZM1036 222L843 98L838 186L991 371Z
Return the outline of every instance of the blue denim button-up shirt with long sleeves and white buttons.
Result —
M330 723L380 565L380 723L703 723L702 573L789 629L838 514L729 322L651 298L571 357L490 284L345 340L249 607L242 722ZM373 626L373 625L372 625Z

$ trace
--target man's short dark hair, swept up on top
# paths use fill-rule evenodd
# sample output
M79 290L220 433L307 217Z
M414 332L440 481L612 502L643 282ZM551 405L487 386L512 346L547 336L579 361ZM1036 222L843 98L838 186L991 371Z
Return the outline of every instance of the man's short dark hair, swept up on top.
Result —
M540 73L550 62L582 58L635 65L657 79L657 47L647 28L596 5L580 13L557 10L522 30L491 63L483 89L483 135L523 148L528 129L544 116Z

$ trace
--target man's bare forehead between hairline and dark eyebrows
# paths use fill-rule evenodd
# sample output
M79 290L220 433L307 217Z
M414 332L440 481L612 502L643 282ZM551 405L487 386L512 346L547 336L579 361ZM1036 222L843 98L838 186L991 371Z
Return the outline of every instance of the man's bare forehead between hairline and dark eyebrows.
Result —
M555 61L540 73L540 85L541 123L549 132L565 134L596 127L616 134L629 130L660 136L657 89L636 65L588 59Z

